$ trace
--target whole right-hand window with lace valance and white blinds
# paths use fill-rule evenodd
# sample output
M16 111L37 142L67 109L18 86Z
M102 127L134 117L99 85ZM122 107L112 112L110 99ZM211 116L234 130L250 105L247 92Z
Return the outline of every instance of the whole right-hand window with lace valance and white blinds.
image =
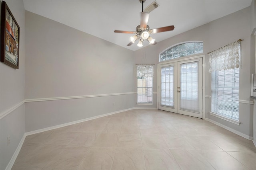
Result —
M212 72L211 112L239 121L240 41L209 53Z

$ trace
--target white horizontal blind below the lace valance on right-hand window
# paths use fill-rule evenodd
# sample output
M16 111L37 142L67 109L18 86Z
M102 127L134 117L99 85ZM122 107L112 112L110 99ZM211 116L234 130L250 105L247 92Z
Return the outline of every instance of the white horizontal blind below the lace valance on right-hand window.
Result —
M239 68L212 72L212 112L239 120Z

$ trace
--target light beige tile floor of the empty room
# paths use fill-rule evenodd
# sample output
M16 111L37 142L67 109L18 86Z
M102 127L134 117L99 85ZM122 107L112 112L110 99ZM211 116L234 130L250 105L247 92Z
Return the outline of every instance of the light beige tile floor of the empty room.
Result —
M130 110L27 136L12 170L256 170L252 141L202 119Z

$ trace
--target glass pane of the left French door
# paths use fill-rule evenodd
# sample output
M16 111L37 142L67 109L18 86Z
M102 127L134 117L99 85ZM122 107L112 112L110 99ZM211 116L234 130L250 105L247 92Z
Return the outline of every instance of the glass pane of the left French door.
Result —
M161 106L174 107L174 66L161 68Z

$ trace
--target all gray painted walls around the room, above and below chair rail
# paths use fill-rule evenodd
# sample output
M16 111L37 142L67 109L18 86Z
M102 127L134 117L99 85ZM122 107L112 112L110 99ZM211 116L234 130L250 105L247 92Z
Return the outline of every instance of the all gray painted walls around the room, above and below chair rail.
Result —
M25 12L22 1L12 0L7 4L20 25L20 69L0 63L1 113L24 99L136 92L136 63L155 64L153 92L157 92L159 53L177 43L192 40L203 41L206 54L244 39L241 43L240 100L250 100L250 74L255 71L255 45L250 45L255 38L251 35L256 28L255 1L244 10L135 52ZM206 70L209 70L207 55ZM206 71L206 95L211 95L210 81ZM156 107L156 94L153 96L154 104L144 107ZM0 169L6 168L25 132L132 107L143 107L136 104L136 94L26 102L0 120ZM208 111L210 100L206 98L207 118L252 136L252 105L240 104L240 126L212 117ZM11 143L7 147L8 135Z

